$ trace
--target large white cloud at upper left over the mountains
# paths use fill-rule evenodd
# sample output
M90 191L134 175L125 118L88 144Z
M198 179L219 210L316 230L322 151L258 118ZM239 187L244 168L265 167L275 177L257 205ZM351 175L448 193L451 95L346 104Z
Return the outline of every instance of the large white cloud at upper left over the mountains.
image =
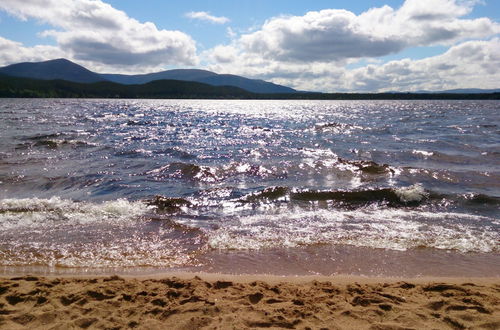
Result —
M2 0L3 9L20 19L34 18L55 29L65 57L108 70L144 70L166 64L197 63L195 42L180 31L141 23L100 0Z

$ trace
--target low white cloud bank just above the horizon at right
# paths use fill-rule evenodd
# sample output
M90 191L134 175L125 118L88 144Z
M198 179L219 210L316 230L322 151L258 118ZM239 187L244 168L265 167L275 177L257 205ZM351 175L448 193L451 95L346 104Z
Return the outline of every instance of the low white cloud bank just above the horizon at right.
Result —
M498 88L500 81L499 38L465 41L452 46L441 55L420 60L407 58L369 64L351 70L345 65L335 63L280 62L237 51L236 48L231 49L231 46L219 46L203 55L210 55L210 60L218 61L208 66L209 70L266 79L309 91L383 92Z

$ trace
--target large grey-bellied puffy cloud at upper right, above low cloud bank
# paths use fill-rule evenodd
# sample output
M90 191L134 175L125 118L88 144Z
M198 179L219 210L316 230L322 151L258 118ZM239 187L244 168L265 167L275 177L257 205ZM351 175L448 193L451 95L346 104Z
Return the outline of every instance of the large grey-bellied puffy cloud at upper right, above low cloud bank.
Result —
M415 46L451 45L500 32L488 18L461 19L471 2L407 0L397 10L372 8L360 15L326 9L304 16L276 17L260 30L242 35L249 53L288 62L324 62L378 57Z

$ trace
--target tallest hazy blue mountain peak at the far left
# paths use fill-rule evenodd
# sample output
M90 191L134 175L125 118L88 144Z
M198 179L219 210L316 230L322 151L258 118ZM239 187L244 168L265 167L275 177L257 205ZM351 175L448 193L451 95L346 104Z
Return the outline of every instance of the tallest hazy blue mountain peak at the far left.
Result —
M93 83L105 80L99 74L63 58L45 62L12 64L0 68L0 73L14 77L42 80L63 79L79 83Z

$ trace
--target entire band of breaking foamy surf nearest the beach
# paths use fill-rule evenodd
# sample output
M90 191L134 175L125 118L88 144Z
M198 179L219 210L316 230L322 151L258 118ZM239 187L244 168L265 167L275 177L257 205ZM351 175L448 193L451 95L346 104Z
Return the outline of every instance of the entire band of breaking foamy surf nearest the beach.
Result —
M0 264L58 267L193 265L204 251L353 245L499 252L498 219L413 206L440 196L422 186L360 191L268 187L232 199L218 188L189 197L93 203L60 197L0 200ZM214 204L204 204L205 199ZM345 207L305 208L335 198ZM388 198L398 207L391 206ZM491 196L463 195L472 203ZM285 201L284 205L281 204ZM347 201L347 202L346 202ZM253 205L275 203L273 207ZM291 203L288 203L291 202ZM238 209L237 205L249 205ZM203 207L217 208L211 216ZM226 209L227 207L227 209ZM191 212L191 211L195 212Z

